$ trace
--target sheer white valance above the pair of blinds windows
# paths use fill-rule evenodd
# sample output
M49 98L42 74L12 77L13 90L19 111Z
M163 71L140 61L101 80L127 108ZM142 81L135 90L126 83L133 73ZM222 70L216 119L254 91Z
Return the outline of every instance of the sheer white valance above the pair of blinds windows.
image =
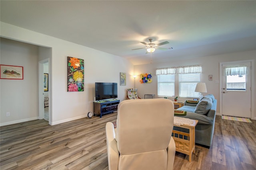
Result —
M202 65L179 66L156 69L156 75L202 73Z

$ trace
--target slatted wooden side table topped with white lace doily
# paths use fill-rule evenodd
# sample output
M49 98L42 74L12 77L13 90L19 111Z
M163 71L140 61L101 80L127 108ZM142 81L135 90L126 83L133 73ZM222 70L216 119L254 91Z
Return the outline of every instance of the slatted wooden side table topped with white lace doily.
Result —
M189 133L181 131L172 131L172 137L175 141L176 151L187 154L189 156L189 162L191 162L192 153L195 153L195 127L198 120L191 119L193 124L190 125L174 125L176 127L182 127L184 129L189 129Z

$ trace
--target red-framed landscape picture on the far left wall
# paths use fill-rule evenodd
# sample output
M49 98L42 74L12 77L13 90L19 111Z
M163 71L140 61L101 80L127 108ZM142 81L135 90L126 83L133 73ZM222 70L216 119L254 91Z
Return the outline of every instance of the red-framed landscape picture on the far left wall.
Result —
M1 79L23 80L23 66L0 65Z

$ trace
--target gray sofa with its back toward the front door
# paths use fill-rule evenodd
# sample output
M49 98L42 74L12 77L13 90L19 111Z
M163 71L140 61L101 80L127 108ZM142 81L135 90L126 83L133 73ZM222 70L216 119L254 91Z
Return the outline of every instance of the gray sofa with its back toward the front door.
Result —
M198 120L196 125L195 140L196 143L204 147L212 145L212 137L214 133L214 123L216 115L217 100L212 94L204 96L198 103L187 100L184 106L177 110L187 111L186 115L175 115ZM174 127L175 130L187 132L186 129Z

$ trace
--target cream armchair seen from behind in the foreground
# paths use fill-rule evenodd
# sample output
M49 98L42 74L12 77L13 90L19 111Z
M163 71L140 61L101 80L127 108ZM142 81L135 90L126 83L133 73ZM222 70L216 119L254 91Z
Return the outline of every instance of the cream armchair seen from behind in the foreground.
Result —
M168 99L124 100L116 129L106 124L109 170L172 170L174 105Z

